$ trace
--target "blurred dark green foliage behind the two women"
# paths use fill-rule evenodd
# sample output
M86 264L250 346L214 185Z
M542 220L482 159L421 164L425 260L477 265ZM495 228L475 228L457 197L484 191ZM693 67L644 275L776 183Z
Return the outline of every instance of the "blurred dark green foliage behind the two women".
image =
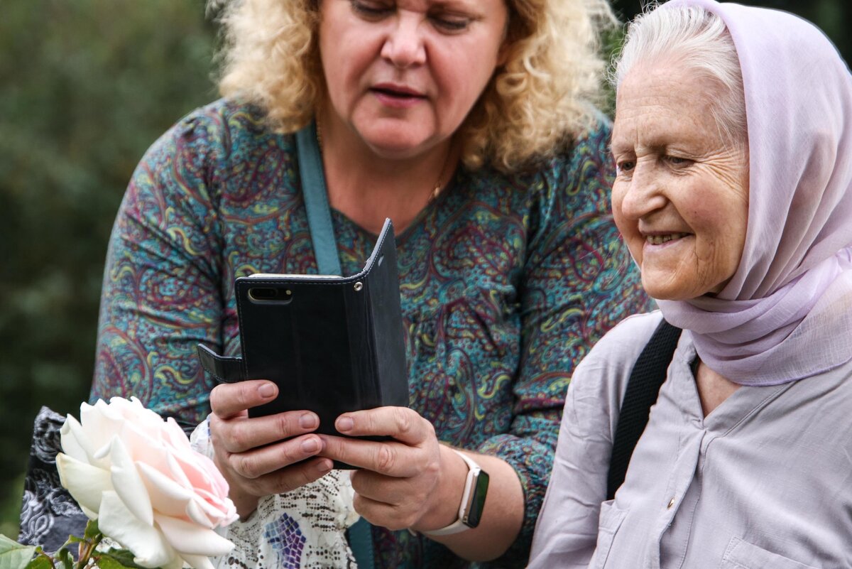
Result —
M815 20L849 54L844 0L763 5ZM146 148L216 98L215 43L204 0L3 2L0 533L17 536L38 408L78 415L88 398L113 216Z

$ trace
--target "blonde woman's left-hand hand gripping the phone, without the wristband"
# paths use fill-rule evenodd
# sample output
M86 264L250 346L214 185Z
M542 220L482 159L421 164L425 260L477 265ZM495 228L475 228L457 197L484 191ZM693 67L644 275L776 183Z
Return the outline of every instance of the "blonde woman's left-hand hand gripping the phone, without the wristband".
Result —
M278 387L265 380L222 383L210 392L214 461L242 519L257 508L260 497L294 490L331 470L329 458L316 457L324 441L314 434L320 426L315 413L249 417L250 408L277 396Z

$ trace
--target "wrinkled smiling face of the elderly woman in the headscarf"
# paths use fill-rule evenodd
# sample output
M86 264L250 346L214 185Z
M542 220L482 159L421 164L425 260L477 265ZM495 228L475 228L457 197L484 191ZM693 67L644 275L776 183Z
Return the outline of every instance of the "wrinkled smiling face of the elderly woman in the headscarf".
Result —
M748 158L720 134L711 112L720 92L665 64L633 69L619 88L613 216L654 298L719 292L740 262Z

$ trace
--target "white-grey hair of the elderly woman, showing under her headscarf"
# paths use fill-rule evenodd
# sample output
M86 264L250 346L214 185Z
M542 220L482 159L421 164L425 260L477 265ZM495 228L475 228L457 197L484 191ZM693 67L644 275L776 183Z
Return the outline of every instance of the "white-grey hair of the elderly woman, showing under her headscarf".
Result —
M700 6L652 3L630 22L609 81L616 92L630 69L665 61L698 72L722 87L713 117L728 143L747 148L746 96L734 40L722 18Z

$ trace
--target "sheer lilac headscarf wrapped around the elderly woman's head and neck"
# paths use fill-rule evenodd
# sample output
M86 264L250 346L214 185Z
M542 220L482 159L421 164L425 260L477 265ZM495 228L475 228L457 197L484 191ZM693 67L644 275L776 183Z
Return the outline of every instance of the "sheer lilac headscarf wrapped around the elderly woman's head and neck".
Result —
M852 359L852 77L826 37L786 12L672 0L722 17L746 92L749 216L740 267L716 297L659 301L699 357L742 385L792 382Z

